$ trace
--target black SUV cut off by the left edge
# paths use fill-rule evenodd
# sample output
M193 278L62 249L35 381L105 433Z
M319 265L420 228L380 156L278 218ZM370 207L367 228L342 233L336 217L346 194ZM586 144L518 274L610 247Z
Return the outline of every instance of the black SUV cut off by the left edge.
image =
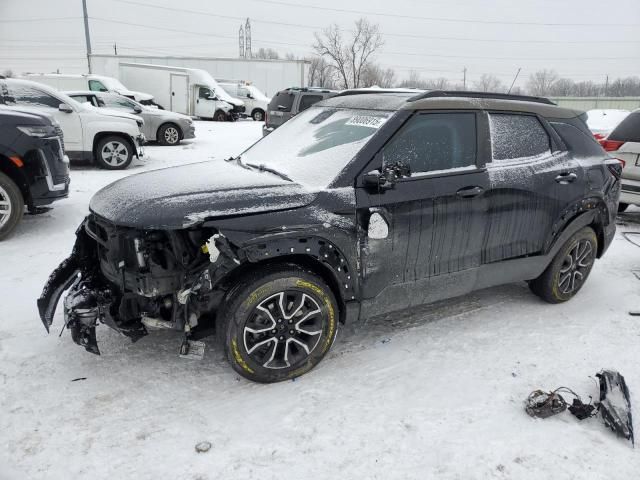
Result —
M0 108L0 240L16 227L25 205L35 213L69 195L69 160L53 117Z

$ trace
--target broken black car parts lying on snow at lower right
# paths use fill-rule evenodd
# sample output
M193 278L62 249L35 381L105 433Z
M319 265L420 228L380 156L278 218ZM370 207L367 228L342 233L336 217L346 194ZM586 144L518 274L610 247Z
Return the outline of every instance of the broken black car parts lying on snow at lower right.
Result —
M580 395L567 387L559 387L551 392L534 390L525 400L525 411L531 417L548 418L552 415L569 410L579 420L596 416L600 413L604 424L619 437L631 440L633 437L633 421L631 417L631 401L629 388L624 377L615 370L602 370L596 374L600 384L600 400L596 403L585 403ZM573 395L571 405L559 392Z

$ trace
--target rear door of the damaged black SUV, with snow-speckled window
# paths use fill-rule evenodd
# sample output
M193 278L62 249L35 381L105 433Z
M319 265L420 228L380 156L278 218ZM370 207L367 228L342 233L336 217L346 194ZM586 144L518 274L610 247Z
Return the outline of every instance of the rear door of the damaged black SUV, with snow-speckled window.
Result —
M556 221L584 185L582 170L557 148L534 114L488 112L489 225L483 263L542 251Z

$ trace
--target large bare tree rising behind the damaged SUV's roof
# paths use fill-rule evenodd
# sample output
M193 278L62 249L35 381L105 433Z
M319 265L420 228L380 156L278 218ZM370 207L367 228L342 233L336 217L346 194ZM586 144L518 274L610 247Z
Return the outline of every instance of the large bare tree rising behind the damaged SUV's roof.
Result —
M338 25L331 25L322 33L316 32L315 37L314 50L335 69L342 88L361 86L365 67L384 43L380 27L364 18L355 22L355 29L348 39L343 37Z

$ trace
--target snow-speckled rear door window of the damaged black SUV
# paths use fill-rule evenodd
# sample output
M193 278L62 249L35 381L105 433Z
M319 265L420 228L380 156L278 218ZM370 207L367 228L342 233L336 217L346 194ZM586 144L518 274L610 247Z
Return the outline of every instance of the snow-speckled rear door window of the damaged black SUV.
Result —
M533 115L490 113L494 160L513 160L551 153L549 135Z

